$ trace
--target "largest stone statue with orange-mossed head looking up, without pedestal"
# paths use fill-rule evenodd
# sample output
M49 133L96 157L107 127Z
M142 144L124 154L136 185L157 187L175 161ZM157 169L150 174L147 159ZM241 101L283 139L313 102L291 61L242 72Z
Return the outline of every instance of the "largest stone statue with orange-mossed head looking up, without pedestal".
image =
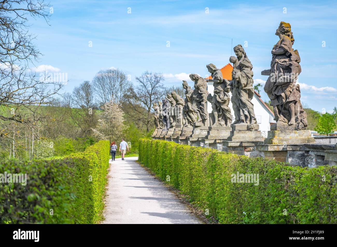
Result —
M298 51L293 49L294 37L290 24L281 22L275 35L280 40L271 52L271 68L261 72L269 76L264 90L270 98L270 105L274 107L278 124L295 124L295 130L305 129L307 114L300 101L300 85L296 85L301 73L301 58Z

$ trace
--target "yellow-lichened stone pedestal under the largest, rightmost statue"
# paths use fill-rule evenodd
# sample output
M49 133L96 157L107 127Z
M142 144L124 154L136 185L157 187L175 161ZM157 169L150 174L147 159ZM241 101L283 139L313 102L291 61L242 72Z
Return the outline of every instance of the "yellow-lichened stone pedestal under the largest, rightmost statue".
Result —
M264 144L268 145L291 145L299 143L315 143L315 139L311 137L310 130L295 130L295 124L272 124L268 137Z

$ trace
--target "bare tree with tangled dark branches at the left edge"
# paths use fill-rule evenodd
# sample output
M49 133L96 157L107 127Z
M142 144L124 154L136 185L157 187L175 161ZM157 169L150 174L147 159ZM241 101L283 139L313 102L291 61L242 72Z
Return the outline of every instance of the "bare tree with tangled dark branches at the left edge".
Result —
M30 68L40 52L28 32L29 16L50 17L50 5L43 0L3 0L0 2L0 143L14 154L26 148L27 135L33 141L40 129L55 121L42 114L41 107L55 104L62 84L50 78L38 78ZM30 141L31 140L31 141Z

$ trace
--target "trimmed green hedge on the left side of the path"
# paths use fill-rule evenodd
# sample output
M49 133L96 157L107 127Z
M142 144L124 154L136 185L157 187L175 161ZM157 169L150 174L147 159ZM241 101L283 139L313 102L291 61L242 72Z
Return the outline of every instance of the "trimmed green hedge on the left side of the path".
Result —
M26 173L27 184L0 183L0 223L97 223L109 167L109 141L63 159L0 164L0 173Z

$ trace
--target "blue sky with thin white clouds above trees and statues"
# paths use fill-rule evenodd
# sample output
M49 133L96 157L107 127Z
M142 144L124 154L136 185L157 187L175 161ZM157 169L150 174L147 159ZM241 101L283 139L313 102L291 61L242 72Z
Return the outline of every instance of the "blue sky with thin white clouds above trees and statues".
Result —
M181 85L184 79L192 85L190 73L206 76L207 64L221 68L228 63L232 39L233 46L248 45L244 48L253 64L254 81L264 83L267 76L261 71L270 68L270 52L278 41L275 30L284 21L292 25L293 48L301 56L302 104L328 112L337 107L335 1L51 0L51 4L50 26L37 19L30 28L43 54L36 71L48 65L48 72L68 73L67 92L112 67L130 75L134 83L135 76L149 70L163 73L167 86ZM263 92L262 98L268 96Z

